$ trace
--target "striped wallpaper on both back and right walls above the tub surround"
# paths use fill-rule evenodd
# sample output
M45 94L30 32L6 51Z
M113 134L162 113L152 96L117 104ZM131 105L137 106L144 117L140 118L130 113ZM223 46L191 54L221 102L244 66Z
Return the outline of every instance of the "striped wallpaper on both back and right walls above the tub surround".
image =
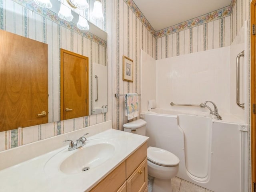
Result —
M156 39L156 59L230 46L244 25L244 20L248 20L246 13L248 13L249 4L250 2L246 0L233 0L232 12L220 19L170 35L157 35L160 37Z

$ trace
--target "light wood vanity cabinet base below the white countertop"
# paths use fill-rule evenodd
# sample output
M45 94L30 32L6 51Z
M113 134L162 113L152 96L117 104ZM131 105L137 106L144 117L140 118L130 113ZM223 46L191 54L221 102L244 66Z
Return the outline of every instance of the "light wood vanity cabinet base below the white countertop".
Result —
M90 192L146 192L148 190L147 144L143 144Z

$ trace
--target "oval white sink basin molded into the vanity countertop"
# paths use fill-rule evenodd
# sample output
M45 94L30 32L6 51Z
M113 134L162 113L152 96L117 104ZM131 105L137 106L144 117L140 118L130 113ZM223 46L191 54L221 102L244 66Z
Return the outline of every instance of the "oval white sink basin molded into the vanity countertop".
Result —
M90 172L97 166L103 165L117 152L118 144L112 139L88 140L86 145L68 151L65 147L57 152L44 166L44 171L51 173L60 171L65 174Z

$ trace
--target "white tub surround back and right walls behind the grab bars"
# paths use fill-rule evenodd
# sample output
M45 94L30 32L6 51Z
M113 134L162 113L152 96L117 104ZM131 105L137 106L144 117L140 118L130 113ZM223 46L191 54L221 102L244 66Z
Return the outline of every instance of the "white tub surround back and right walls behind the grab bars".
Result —
M156 61L156 101L160 108L210 112L207 108L172 106L214 102L219 114L232 114L243 122L246 110L236 105L236 56L245 50L244 32L242 42L232 46L197 52ZM199 59L200 58L200 59ZM246 61L240 58L240 101L246 98ZM213 106L209 104L213 109Z

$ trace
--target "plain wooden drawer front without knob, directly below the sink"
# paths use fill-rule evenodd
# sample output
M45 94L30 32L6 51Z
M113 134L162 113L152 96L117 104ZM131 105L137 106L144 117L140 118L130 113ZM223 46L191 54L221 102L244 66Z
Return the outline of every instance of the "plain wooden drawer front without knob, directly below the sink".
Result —
M99 184L97 184L90 192L116 192L125 182L125 161L122 162L114 171L106 176Z

